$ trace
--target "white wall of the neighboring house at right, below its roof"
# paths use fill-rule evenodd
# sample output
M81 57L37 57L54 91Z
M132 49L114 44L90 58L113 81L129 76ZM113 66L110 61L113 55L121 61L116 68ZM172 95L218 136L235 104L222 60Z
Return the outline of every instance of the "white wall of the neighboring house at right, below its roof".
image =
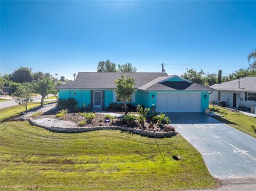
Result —
M220 92L220 101L225 101L230 107L233 107L233 94L236 93L236 107L239 104L242 104L245 107L251 108L251 106L256 106L256 102L254 101L245 101L245 92L235 92L235 91L218 91ZM218 103L218 92L213 92L210 94L210 101L215 101Z

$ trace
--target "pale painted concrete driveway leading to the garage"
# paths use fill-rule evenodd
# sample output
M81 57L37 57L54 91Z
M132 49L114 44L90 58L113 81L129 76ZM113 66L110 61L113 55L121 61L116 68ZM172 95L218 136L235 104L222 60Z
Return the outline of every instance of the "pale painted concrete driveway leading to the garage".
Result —
M166 113L215 178L256 177L256 139L204 113Z

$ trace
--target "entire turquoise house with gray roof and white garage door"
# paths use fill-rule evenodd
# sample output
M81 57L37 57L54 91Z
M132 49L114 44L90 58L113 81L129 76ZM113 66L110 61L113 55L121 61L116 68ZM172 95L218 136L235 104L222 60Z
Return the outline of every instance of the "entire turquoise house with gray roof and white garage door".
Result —
M75 81L56 87L59 98L75 98L78 107L109 107L118 102L115 80L134 78L136 92L130 103L156 106L158 112L204 112L209 108L209 93L213 88L196 84L167 73L79 72Z

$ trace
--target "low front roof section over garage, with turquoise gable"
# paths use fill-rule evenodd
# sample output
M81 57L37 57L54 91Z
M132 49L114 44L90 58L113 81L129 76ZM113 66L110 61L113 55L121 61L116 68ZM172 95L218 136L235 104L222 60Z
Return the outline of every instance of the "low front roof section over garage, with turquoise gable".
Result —
M140 89L140 88L139 88ZM154 85L143 89L143 90L167 90L167 91L173 91L173 90L205 90L205 91L213 91L215 89L203 86L201 84L196 83L190 83L187 81L164 81L164 82L157 82Z

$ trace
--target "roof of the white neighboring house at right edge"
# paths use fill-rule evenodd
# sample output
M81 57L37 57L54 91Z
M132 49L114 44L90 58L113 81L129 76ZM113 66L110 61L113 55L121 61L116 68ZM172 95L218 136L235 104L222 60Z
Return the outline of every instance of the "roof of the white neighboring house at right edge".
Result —
M239 87L240 84L240 87ZM227 90L236 92L256 92L256 76L244 77L239 80L232 80L223 82L222 84L215 84L210 86L217 90Z

